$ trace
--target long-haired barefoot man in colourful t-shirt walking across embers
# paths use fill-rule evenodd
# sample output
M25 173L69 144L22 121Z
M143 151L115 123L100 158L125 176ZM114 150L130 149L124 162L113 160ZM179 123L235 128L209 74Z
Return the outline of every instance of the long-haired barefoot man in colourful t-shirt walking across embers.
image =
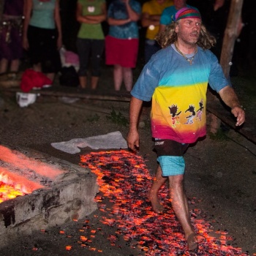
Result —
M162 46L143 68L131 91L127 143L139 147L138 119L143 101L150 101L151 133L157 151L156 178L149 192L153 210L163 211L157 193L169 181L170 200L190 251L197 249L184 192L184 151L190 143L206 135L206 91L211 89L230 107L236 126L245 121L244 110L210 49L216 40L202 25L198 10L184 7L168 29L159 34ZM200 118L197 110L201 109Z

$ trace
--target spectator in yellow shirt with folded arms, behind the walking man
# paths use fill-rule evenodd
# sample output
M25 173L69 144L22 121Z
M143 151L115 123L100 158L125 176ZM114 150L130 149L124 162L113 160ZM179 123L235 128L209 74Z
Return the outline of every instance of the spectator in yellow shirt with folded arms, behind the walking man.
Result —
M150 0L143 4L141 25L146 28L145 63L154 53L157 53L157 50L161 49L155 37L159 32L162 11L171 5L173 0Z

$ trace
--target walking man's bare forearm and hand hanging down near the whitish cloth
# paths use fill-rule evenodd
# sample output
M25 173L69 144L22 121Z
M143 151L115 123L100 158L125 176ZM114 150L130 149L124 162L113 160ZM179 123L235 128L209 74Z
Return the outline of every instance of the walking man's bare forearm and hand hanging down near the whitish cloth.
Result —
M138 121L143 101L132 97L129 104L129 132L127 135L127 145L132 151L136 151L140 146Z

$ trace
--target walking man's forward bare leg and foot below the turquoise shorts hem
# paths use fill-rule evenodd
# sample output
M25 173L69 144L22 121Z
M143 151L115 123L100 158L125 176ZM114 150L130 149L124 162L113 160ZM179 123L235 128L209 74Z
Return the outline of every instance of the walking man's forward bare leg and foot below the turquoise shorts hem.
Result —
M187 203L187 196L184 191L184 175L168 176L170 200L173 206L173 211L176 214L181 227L184 230L185 238L187 240L188 249L193 250L197 248L197 241L195 241L195 232L189 217L189 206Z

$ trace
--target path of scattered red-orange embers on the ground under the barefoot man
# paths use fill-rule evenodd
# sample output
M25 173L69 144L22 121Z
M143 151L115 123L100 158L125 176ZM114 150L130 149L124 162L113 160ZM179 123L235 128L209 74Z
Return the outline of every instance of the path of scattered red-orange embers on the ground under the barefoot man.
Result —
M184 233L176 219L168 198L167 188L161 193L164 214L155 214L147 200L152 177L146 169L142 157L128 151L104 151L81 156L81 165L89 167L97 174L97 181L103 197L108 197L113 208L108 209L97 196L101 211L105 217L101 222L118 228L118 234L124 236L132 248L138 246L145 255L189 255ZM195 199L190 200L195 201ZM246 255L240 248L230 246L232 238L227 232L219 231L216 237L209 233L211 225L205 219L199 219L200 209L192 211L192 224L197 233L203 236L198 255ZM110 244L115 245L116 234L110 235ZM86 241L88 242L88 241ZM80 239L81 246L85 246Z

